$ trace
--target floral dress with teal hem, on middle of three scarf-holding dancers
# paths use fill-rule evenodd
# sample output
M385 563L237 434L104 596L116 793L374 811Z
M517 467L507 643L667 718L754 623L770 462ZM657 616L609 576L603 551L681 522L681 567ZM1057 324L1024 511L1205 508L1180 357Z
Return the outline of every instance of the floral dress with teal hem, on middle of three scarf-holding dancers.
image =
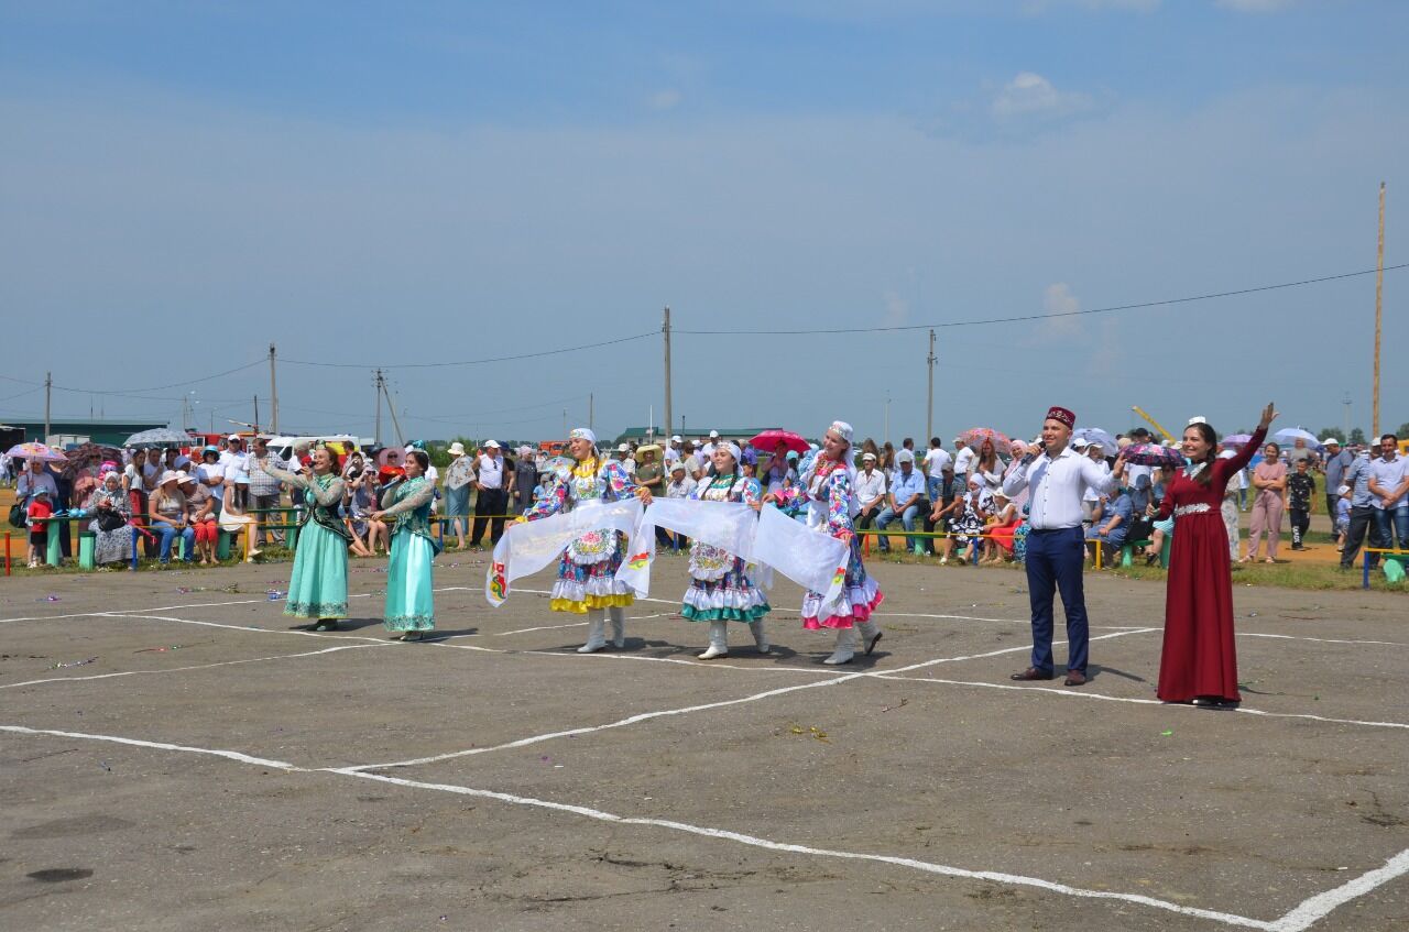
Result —
M734 474L716 476L700 483L690 498L696 501L743 501L754 505L762 501L762 486L757 479ZM748 577L743 558L700 541L690 545L690 577L685 590L681 614L686 621L758 621L772 608L764 590Z

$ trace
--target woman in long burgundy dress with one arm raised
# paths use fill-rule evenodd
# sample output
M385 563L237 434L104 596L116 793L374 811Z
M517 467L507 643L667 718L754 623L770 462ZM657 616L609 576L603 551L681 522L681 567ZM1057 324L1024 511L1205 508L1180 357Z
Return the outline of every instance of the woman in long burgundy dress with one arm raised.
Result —
M1181 448L1189 465L1174 474L1160 504L1161 521L1175 517L1160 657L1158 695L1165 703L1231 708L1241 701L1223 490L1247 466L1275 417L1268 404L1253 439L1231 459L1217 459L1217 435L1208 424L1184 431Z

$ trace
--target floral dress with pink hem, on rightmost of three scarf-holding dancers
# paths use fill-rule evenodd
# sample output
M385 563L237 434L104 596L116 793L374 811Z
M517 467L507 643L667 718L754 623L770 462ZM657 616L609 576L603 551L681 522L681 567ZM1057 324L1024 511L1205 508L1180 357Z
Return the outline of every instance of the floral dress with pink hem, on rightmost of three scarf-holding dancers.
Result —
M844 463L817 456L805 469L802 484L809 500L807 527L827 531L833 536L854 529L852 519L859 508L851 470ZM847 559L841 597L826 605L821 598L821 593L813 591L802 597L803 628L851 628L868 621L871 612L885 600L885 594L867 574L865 563L861 562L859 538L851 538L851 555Z

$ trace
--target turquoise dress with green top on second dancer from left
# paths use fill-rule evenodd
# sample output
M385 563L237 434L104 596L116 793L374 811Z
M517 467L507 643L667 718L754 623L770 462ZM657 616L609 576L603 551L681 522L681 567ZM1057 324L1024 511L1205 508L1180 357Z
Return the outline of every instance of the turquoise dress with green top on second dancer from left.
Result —
M390 493L386 517L396 517L392 563L386 570L387 631L430 631L435 626L431 560L440 545L431 536L435 487L424 476L407 479Z

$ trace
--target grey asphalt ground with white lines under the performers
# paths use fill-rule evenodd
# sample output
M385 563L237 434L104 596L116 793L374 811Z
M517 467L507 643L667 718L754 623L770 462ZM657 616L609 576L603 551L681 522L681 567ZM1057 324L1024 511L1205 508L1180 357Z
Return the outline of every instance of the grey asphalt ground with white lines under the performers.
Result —
M1067 688L1020 570L876 565L831 669L786 581L696 660L682 558L590 656L483 555L389 641L383 566L330 634L289 565L0 583L0 928L1409 928L1402 597L1237 587L1234 712L1154 700L1151 581L1088 574Z

